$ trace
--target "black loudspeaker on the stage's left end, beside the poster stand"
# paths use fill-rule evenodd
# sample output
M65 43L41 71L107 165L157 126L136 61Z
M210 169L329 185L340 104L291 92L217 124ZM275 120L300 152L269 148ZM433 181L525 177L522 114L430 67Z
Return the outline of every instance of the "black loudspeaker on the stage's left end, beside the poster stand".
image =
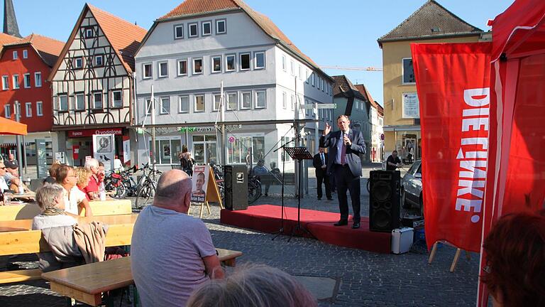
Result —
M225 208L245 210L248 208L248 168L225 166Z

